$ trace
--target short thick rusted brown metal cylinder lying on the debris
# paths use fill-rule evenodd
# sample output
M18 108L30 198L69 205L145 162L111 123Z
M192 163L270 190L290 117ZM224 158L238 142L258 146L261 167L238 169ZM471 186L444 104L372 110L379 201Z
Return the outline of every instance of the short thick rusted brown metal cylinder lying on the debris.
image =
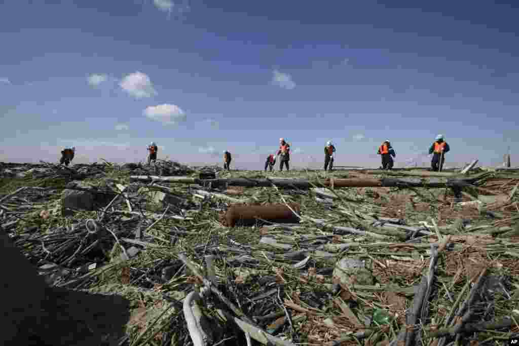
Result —
M289 203L293 211L299 214L301 205ZM285 204L265 205L231 205L224 217L228 227L251 226L261 218L270 222L294 223L298 221L297 216Z

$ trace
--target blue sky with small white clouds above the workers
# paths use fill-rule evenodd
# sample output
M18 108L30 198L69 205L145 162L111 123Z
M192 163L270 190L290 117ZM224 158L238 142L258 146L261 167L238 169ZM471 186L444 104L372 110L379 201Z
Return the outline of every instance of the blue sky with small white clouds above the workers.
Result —
M519 146L519 4L478 1L5 0L2 161L494 165ZM395 4L398 4L395 5ZM511 5L512 4L512 5ZM512 161L514 154L512 153Z

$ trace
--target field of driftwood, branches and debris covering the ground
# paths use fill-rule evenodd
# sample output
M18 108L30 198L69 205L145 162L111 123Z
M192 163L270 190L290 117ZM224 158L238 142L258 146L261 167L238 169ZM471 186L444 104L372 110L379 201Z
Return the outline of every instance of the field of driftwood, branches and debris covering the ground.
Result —
M0 233L67 311L54 335L27 322L47 344L501 345L518 187L514 169L0 163ZM121 321L93 322L111 304Z

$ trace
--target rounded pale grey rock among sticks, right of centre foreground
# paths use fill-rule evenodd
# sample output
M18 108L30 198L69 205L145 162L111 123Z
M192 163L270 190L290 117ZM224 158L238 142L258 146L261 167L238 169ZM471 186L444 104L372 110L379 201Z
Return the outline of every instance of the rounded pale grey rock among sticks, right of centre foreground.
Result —
M352 284L373 285L373 274L367 268L371 268L370 259L344 257L337 262L333 270L334 283L340 282L347 286Z

